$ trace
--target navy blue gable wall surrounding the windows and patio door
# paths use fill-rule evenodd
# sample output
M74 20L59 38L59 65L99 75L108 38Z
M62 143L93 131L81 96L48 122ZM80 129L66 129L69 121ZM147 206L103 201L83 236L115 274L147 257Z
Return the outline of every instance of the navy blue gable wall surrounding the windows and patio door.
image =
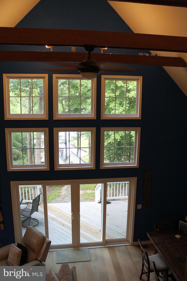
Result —
M17 27L132 32L108 2L102 0L41 0ZM7 47L10 48L13 47ZM43 50L46 51L44 48ZM137 54L137 51L125 50L125 53L128 52ZM141 127L139 168L110 169L110 177L137 177L136 204L143 203L144 171L152 172L150 205L136 209L134 241L148 240L146 233L153 231L153 222L156 220L169 219L172 228L177 228L179 220L184 218L187 211L185 139L187 97L161 66L138 67L138 71L124 73L124 75L143 76L142 118L118 120L117 126ZM5 219L5 230L0 231L0 237L3 246L14 242L10 181L108 177L108 170L99 169L99 153L100 128L116 126L115 120L100 120L101 74L109 73L99 73L97 77L96 120L66 120L63 124L67 127L96 127L96 170L73 171L73 173L54 171L53 128L62 126L62 121L53 120L53 73L48 72L49 120L4 120L2 74L46 73L45 68L44 63L0 62L0 198ZM4 128L24 126L49 128L50 171L7 172Z

